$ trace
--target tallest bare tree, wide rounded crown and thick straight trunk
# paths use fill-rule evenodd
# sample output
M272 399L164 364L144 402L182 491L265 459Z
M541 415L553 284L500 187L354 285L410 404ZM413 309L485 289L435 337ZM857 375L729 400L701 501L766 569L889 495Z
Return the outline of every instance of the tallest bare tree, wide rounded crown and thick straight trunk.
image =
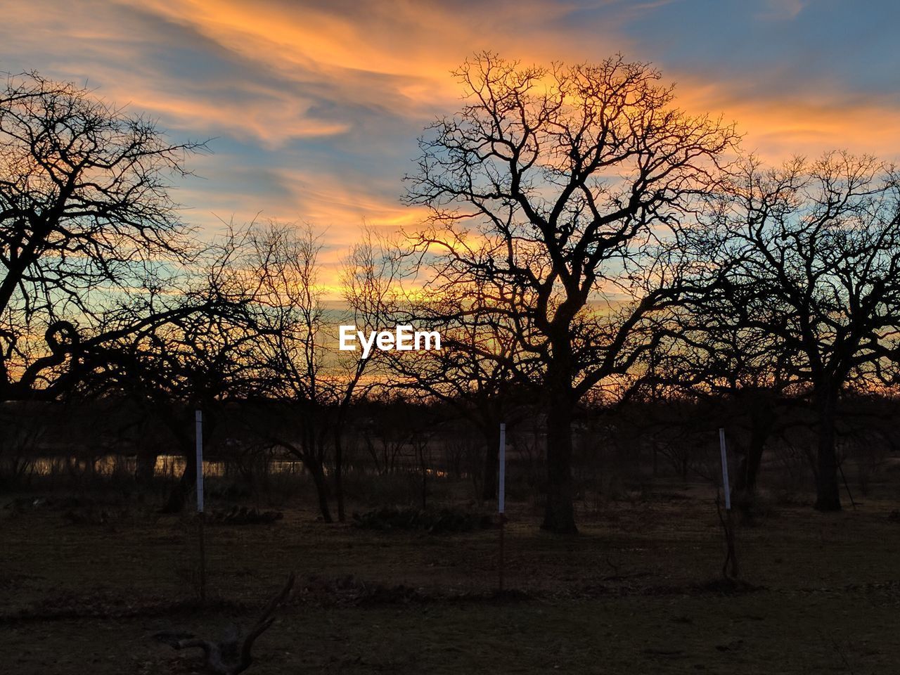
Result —
M542 527L574 532L572 415L643 348L644 318L672 295L645 254L714 180L734 130L681 112L658 71L623 58L545 68L482 54L455 75L467 103L428 129L410 178L409 201L430 211L419 251L432 293L467 308L459 320L517 327L515 356L482 356L543 397Z

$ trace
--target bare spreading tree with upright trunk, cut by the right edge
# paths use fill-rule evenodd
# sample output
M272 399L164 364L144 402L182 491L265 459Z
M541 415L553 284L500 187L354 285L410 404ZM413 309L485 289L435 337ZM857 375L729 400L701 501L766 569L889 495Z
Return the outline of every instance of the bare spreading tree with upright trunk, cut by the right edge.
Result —
M751 158L707 227L686 243L707 270L700 275L716 275L717 291L693 301L723 307L721 328L740 331L743 348L770 345L779 376L808 397L818 433L815 507L840 509L840 396L853 383L896 382L896 171L847 153L797 158L779 169Z

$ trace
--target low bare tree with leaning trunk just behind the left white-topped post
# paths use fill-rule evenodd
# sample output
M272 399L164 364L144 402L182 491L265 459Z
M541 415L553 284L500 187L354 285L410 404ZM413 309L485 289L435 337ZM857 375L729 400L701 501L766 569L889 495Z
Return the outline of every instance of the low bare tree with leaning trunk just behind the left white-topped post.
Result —
M144 289L131 303L98 317L96 335L73 352L76 368L65 394L118 398L166 430L184 456L184 473L169 492L166 512L184 508L193 490L193 412L202 410L203 441L215 441L234 404L268 395L270 378L259 342L257 288L238 268L246 233L229 231L194 258L195 268L157 298ZM145 461L155 462L155 457ZM151 464L152 465L152 464Z

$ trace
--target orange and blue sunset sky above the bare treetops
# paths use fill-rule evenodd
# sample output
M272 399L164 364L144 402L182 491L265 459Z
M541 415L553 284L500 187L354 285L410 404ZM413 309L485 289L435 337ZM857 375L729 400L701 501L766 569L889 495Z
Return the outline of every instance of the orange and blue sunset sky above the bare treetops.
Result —
M680 103L737 121L778 160L849 148L900 159L893 0L3 3L0 70L86 83L175 139L211 139L176 193L213 228L257 212L327 229L333 264L401 205L428 121L459 107L449 72L507 58L651 60Z

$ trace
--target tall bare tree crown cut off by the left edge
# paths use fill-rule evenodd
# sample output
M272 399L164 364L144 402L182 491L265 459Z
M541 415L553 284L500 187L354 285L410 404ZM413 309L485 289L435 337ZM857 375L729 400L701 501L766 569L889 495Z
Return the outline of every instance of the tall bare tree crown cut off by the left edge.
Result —
M0 399L38 389L49 395L85 343L103 339L111 312L149 295L158 300L173 270L190 261L191 230L168 181L184 175L185 155L201 148L169 142L153 122L76 85L36 73L7 77L0 89ZM145 306L151 312L142 323L157 313Z

